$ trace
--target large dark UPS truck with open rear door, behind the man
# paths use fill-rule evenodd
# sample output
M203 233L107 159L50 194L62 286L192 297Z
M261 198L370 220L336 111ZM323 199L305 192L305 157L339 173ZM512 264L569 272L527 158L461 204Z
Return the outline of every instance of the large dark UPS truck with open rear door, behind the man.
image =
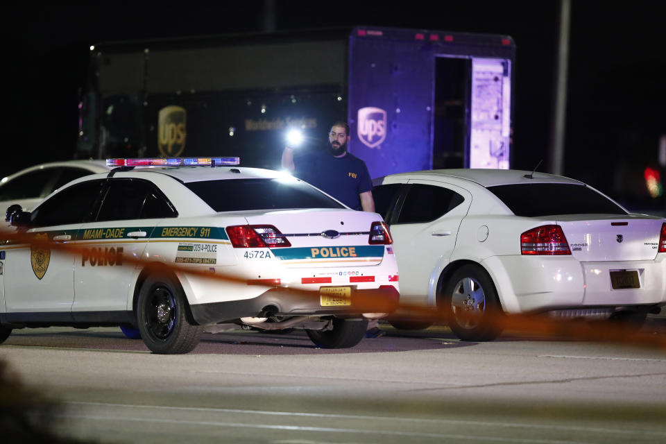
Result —
M91 46L76 157L239 156L279 168L348 121L375 178L511 165L508 35L357 26ZM298 155L298 152L295 154Z

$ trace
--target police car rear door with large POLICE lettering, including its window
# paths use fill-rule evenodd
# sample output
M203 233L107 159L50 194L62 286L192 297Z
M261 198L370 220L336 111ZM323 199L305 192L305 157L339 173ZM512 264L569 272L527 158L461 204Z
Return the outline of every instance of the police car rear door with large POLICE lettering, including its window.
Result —
M148 239L164 217L178 213L148 180L113 178L94 222L80 231L80 254L74 264L74 318L116 311L121 319L132 309L130 294Z

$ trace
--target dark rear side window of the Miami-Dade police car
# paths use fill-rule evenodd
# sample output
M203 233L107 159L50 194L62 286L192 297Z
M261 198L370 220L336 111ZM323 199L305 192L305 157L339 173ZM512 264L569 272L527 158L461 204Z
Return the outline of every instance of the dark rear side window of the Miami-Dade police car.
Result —
M104 197L97 221L156 219L174 216L173 208L151 182L117 179Z

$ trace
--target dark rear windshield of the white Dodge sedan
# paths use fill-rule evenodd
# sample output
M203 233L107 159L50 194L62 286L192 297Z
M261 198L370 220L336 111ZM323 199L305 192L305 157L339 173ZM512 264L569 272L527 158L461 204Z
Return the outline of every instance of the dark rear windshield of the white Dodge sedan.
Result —
M534 183L488 187L516 216L554 214L627 214L603 194L568 183Z

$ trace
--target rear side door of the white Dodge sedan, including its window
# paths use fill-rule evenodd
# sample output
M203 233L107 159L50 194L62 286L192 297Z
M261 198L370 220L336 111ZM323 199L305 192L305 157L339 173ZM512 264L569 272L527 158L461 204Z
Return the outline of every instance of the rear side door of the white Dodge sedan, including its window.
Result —
M411 179L408 185L391 223L400 302L434 306L437 280L449 262L472 196L465 189L434 180Z

